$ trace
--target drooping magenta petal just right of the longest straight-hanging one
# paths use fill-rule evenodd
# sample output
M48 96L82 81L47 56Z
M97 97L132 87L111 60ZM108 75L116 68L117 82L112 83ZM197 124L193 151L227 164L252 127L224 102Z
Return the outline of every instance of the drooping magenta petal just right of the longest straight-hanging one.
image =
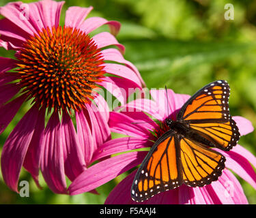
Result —
M64 151L65 172L68 178L74 181L86 169L85 158L72 119L66 112L63 112L62 115L60 134Z

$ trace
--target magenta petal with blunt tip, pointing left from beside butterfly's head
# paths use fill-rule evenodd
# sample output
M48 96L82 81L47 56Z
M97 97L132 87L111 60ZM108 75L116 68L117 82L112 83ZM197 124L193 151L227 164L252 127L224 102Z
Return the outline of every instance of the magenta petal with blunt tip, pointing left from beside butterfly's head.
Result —
M146 129L141 123L137 123L136 120L119 112L110 113L109 127L111 127L111 131L115 131L126 136L134 136L143 139L150 138L151 136L150 131L148 131L148 129Z

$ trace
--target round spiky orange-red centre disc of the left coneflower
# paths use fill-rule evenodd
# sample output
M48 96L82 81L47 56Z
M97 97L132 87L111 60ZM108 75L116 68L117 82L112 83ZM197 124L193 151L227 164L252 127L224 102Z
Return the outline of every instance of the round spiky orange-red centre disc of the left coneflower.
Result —
M80 110L104 76L100 50L89 35L72 27L43 29L18 56L23 92L48 110Z

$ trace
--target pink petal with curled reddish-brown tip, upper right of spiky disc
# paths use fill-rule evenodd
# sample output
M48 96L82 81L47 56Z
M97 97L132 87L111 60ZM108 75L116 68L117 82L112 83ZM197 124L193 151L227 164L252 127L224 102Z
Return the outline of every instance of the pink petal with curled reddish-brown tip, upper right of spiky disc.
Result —
M119 29L121 27L121 24L117 21L114 21L114 20L108 21L108 20L106 20L104 18L100 18L100 17L88 18L79 27L83 31L85 31L85 33L88 34L88 33L91 33L91 31L94 31L95 29L97 29L98 27L101 27L102 25L109 25L109 28L113 35L117 35L117 33L119 32Z

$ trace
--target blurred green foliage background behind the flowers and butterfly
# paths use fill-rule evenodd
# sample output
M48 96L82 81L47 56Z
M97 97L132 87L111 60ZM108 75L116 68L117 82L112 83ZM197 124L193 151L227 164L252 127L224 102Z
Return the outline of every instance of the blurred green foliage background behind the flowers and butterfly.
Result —
M1 0L0 6L8 2ZM234 20L225 20L226 3L233 4ZM209 82L227 80L231 87L231 114L246 117L256 127L256 1L68 0L61 13L62 24L72 5L92 5L94 10L89 17L101 16L122 23L117 40L126 46L125 58L137 66L147 87L167 85L176 93L192 95ZM0 48L0 55L13 57L14 52ZM26 107L1 134L0 149ZM243 136L240 144L256 155L256 131ZM30 196L21 198L8 189L0 174L0 204L103 204L124 176L99 187L100 195L83 193L70 197L54 194L42 176L42 189L38 189L23 170L20 180L29 181ZM238 179L248 202L256 204L255 189Z

